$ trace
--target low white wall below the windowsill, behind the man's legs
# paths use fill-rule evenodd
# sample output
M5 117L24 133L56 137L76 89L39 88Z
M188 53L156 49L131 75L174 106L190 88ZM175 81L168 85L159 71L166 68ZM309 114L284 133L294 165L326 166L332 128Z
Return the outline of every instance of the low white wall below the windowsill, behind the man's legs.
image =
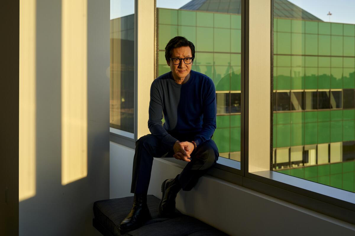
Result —
M112 142L110 150L110 198L131 196L134 150ZM118 179L113 170L126 179ZM155 158L148 194L161 198L163 180L181 170ZM355 235L354 225L208 175L191 191L180 191L176 204L181 212L229 235Z

